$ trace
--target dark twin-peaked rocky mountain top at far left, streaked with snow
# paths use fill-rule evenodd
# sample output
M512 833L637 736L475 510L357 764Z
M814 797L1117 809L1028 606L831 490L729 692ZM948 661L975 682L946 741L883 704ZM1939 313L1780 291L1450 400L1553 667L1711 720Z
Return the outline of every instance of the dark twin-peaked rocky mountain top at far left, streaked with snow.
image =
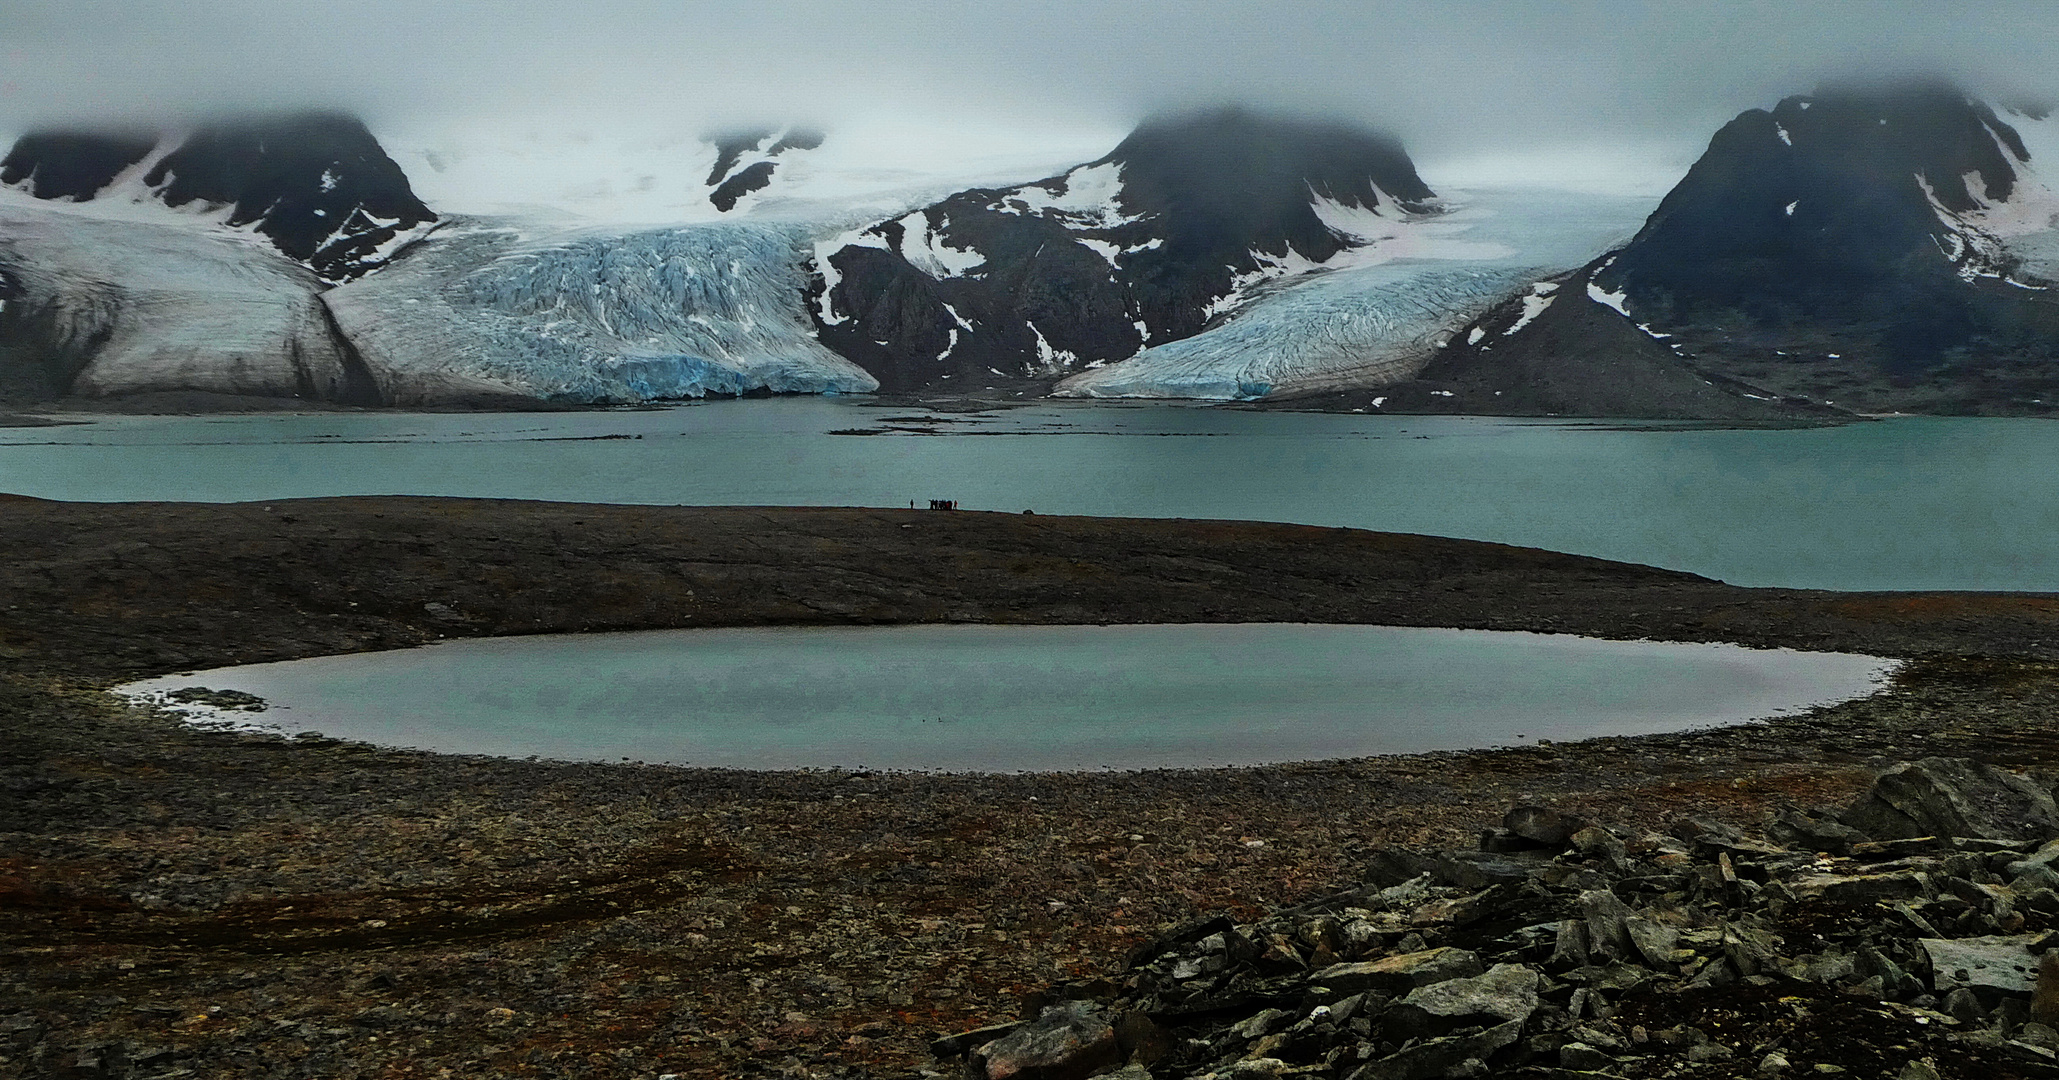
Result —
M111 197L107 187L119 173L165 150L163 142L93 132L23 136L0 165L0 183L45 200ZM132 197L226 208L226 224L255 228L327 282L385 265L397 245L437 220L362 121L323 111L204 125L159 156Z

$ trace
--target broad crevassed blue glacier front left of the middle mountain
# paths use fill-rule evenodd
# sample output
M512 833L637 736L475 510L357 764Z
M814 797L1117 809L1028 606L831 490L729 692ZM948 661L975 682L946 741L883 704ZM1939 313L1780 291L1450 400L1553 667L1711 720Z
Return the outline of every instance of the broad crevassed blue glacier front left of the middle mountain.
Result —
M323 300L395 405L875 391L803 309L815 232L733 220L537 235L455 218Z

